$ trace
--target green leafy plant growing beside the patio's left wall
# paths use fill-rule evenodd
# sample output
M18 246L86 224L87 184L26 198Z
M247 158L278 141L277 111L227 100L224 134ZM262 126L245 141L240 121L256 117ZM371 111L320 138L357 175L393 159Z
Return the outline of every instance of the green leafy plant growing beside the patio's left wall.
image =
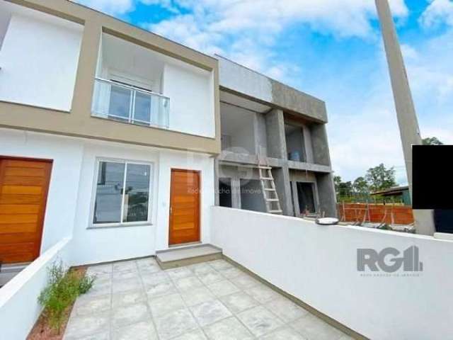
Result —
M56 329L58 334L66 317L65 311L80 294L90 290L94 280L94 277L81 277L76 271L68 270L62 261L52 264L47 285L40 293L38 302L44 307L49 326Z

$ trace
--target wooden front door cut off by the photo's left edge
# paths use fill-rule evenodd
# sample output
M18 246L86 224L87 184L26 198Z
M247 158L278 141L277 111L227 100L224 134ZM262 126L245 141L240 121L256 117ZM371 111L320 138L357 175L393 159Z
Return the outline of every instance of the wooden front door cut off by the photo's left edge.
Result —
M40 254L51 161L0 157L0 261Z

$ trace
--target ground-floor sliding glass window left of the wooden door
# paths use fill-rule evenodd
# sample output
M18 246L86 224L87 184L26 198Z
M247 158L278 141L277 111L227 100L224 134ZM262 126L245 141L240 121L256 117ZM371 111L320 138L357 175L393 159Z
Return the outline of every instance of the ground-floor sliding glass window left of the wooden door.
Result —
M151 165L98 162L93 225L149 221Z

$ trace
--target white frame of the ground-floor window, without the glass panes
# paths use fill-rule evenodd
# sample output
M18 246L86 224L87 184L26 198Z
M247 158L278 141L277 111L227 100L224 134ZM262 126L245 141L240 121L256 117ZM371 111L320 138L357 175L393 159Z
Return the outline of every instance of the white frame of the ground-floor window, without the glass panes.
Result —
M94 205L96 203L96 193L98 188L98 174L99 174L99 166L101 162L110 162L110 163L121 163L125 164L125 174L123 177L122 182L122 200L121 200L121 215L120 215L120 222L109 222L109 223L94 223ZM148 186L148 217L146 221L134 221L134 222L122 222L122 218L124 217L124 204L125 204L125 184L126 184L126 176L127 176L127 164L139 164L139 165L147 165L149 166L149 186ZM140 225L152 225L151 218L152 218L152 209L154 205L153 200L153 179L154 179L154 162L145 162L145 161L136 161L130 159L114 159L114 158L96 158L96 166L94 167L94 176L93 176L93 192L91 195L91 209L90 209L90 216L89 216L89 223L88 229L96 229L96 228L109 228L109 227L133 227L133 226L140 226Z

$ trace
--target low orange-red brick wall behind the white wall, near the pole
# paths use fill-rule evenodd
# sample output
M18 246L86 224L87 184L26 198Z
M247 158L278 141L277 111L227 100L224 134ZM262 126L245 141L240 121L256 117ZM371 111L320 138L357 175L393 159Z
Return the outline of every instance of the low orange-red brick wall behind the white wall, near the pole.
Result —
M367 206L369 208L369 216ZM410 225L413 223L412 207L407 205L338 203L337 209L340 221L344 222L356 222L357 220L362 222L364 214L367 214L365 222L380 223L384 220L384 222L389 225L392 223L395 225ZM343 215L345 218L343 218Z

